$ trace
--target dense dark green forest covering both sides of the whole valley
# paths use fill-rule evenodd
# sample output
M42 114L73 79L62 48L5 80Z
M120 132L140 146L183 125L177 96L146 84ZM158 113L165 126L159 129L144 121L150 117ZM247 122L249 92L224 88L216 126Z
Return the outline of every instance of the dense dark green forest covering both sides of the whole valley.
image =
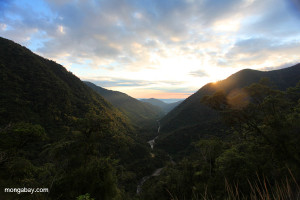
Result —
M242 70L163 117L10 40L0 47L0 199L300 198L299 64ZM23 187L49 191L4 192Z

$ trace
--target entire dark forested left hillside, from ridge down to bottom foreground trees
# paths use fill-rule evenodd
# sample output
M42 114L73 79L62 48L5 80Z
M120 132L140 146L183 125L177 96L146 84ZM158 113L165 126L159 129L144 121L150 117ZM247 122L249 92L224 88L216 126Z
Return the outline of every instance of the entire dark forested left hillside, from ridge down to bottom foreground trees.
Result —
M134 196L155 158L127 121L63 66L0 38L0 199ZM49 192L4 192L25 185Z

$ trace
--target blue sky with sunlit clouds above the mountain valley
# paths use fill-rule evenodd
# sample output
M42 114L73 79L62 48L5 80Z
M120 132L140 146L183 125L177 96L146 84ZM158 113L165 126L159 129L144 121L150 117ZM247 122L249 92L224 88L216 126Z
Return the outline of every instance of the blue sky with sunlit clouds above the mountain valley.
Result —
M135 98L300 62L300 0L0 0L0 36Z

